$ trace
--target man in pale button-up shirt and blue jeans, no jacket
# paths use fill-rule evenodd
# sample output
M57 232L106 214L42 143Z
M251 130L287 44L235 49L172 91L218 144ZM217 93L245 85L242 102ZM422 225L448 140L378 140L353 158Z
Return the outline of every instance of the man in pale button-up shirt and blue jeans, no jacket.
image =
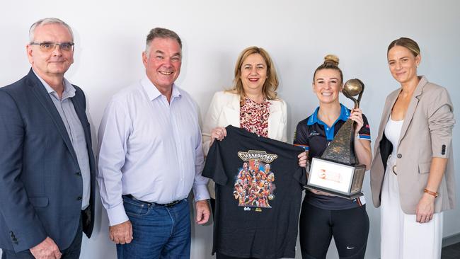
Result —
M174 84L181 49L173 31L151 30L146 76L113 96L100 124L98 183L118 258L190 258L192 188L195 221L209 219L197 107Z

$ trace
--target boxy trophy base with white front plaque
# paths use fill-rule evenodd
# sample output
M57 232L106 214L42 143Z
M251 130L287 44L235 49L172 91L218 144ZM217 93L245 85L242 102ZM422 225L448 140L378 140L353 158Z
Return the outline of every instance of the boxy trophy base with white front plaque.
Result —
M365 172L364 165L313 158L306 188L352 200L363 195L361 189Z

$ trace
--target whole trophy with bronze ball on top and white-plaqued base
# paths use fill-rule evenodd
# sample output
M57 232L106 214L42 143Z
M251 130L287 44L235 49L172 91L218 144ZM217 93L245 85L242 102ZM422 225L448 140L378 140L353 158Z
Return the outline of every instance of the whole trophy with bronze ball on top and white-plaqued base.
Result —
M364 84L360 79L350 79L345 82L342 93L358 108L363 91ZM306 188L355 199L363 195L361 188L365 172L366 166L360 164L355 154L355 122L348 119L321 158L311 159Z

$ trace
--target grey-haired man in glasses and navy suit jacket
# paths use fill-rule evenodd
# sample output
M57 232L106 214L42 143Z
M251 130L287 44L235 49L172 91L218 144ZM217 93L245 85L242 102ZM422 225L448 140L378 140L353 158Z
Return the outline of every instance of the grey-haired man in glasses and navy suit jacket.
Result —
M32 69L0 88L2 258L79 258L93 230L94 156L83 91L64 79L74 62L69 25L30 27Z

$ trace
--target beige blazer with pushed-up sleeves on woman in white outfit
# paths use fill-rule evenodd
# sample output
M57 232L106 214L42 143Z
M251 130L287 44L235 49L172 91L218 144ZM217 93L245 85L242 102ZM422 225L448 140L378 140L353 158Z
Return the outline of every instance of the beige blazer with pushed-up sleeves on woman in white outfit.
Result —
M375 207L380 206L386 159L391 154L391 149L384 148L389 143L384 137L384 129L399 93L401 88L386 97L374 146L371 189ZM432 84L425 76L421 76L404 117L396 152L401 209L406 214L415 214L415 207L423 195L430 175L432 157L448 159L444 177L437 190L439 196L435 199L435 212L454 208L456 182L452 156L452 128L455 123L453 110L446 88Z

